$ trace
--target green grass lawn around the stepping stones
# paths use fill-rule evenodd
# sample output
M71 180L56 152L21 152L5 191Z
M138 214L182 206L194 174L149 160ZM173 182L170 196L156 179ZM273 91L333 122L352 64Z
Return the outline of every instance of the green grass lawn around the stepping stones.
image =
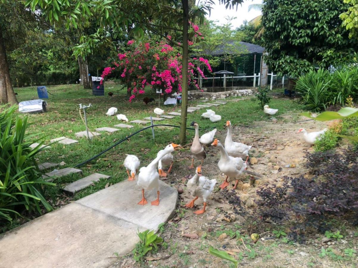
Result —
M87 120L90 130L95 131L98 127L114 127L118 123L125 123L117 120L116 116L106 116L107 109L110 107L117 107L118 114L126 114L129 121L135 119L143 119L144 117L155 116L153 110L158 107L156 103L149 103L147 106L142 102L145 96L155 97L155 94L147 93L145 96L140 96L132 103L128 102L125 91L121 90L121 94L115 93L114 97L107 96L109 91L118 91L119 85L108 85L107 87L114 87L106 89L105 96L92 96L91 90L77 89L76 85L61 85L48 86L50 93L56 95L49 95L48 111L46 113L29 114L29 121L33 123L30 130L34 133L40 133L41 136L46 136L49 142L52 138L66 136L78 140L78 143L71 145L62 145L55 143L52 148L39 154L39 162L62 162L66 165L63 167L73 167L90 157L105 150L113 145L118 140L140 130L143 126L135 126L131 129L120 129L114 133L108 134L102 132L99 138L93 138L93 141L88 141L86 138L76 138L74 133L85 130L84 124L79 116L79 103L93 107L87 109ZM18 100L25 101L29 99L37 99L36 87L15 88L18 93ZM149 92L149 90L148 90ZM189 101L189 106L195 106L200 101ZM270 101L272 108L278 108L279 112L275 118L279 122L284 122L285 119L280 115L291 113L295 110L300 110L301 106L296 102L287 99L272 99ZM171 111L178 111L180 106L164 106L160 108L165 110L165 113ZM218 131L225 130L226 120L230 120L232 125L250 127L255 121L269 121L270 116L264 114L260 106L251 100L244 100L240 102L228 102L225 105L211 107L217 114L222 116L222 120L212 123L208 119L202 118L200 115L205 112L205 109L200 109L194 113L188 113L188 127L190 122L196 121L200 126L200 135L206 130L211 130L216 127ZM298 112L298 111L297 111ZM180 126L180 117L175 117L170 120L163 120L160 123ZM187 131L187 142L191 142L194 136L194 131ZM141 166L147 165L152 159L156 157L157 152L164 148L170 142L179 142L179 128L156 128L155 140L152 138L150 129L140 132L139 134L130 138L120 145L114 147L110 151L101 155L97 159L80 167L83 170L83 175L70 175L55 180L58 186L62 186L69 182L80 179L81 177L99 172L110 175L110 179L102 179L95 183L94 186L89 186L74 196L74 199L82 198L86 195L92 194L98 190L104 189L107 182L115 184L127 178L123 161L125 154L135 154L141 160ZM184 149L183 149L184 150ZM187 149L188 150L188 149ZM189 155L189 154L188 154ZM180 160L178 162L187 162L190 160ZM60 167L60 168L63 168ZM53 189L53 194L61 193L59 188Z

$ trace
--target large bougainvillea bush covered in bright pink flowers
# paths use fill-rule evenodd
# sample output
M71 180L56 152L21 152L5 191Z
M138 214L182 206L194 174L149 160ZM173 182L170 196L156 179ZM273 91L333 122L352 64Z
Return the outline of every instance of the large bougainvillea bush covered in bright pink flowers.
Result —
M171 37L168 36L168 38ZM193 44L191 41L188 43L189 45ZM111 74L112 70L120 69L123 82L130 85L127 89L132 92L130 102L137 94L144 94L147 85L151 88L162 89L166 94L182 91L182 54L177 48L171 47L165 41L141 42L130 40L127 45L129 46L127 52L119 53L118 59L113 61L115 67L105 68L101 77L105 78ZM198 67L199 65L212 72L207 59L189 59L188 86L197 89L200 88L197 81L194 80L195 73L199 73L205 78L203 70Z

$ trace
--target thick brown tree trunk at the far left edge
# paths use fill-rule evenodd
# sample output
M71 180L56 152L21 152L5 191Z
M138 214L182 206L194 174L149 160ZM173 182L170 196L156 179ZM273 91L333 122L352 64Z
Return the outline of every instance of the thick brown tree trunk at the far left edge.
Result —
M11 84L8 60L3 38L3 29L0 27L0 103L18 104L13 85Z

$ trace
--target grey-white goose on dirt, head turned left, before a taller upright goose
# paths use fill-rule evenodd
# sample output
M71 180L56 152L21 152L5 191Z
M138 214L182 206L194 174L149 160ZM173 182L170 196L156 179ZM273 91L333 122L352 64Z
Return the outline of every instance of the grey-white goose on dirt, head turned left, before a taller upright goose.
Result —
M233 189L236 189L236 186L239 182L238 177L242 174L242 172L246 169L246 163L240 157L232 157L229 156L222 146L221 142L217 139L211 144L212 146L218 147L220 150L220 160L218 162L219 169L226 175L225 181L220 185L221 189L224 189L229 185L229 181L236 180L235 186Z

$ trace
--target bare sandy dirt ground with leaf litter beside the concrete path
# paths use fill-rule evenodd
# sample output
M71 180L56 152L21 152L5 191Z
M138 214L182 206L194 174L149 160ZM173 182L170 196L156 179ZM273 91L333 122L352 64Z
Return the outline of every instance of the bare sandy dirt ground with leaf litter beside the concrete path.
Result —
M296 117L297 118L297 117ZM295 120L296 120L295 118ZM250 128L233 128L233 140L252 145L250 151L252 165L248 170L264 175L256 180L257 185L269 182L280 184L284 176L298 176L308 171L304 167L304 155L313 151L303 141L302 134L297 130L303 127L308 132L322 130L326 127L325 122L306 121L307 118L299 118L293 122L293 117L286 116L285 120L255 122ZM282 121L286 123L282 123ZM305 121L305 122L300 122ZM234 124L234 122L232 122ZM217 132L216 138L224 142L226 132ZM254 245L250 239L250 230L245 229L245 220L235 216L233 207L224 198L219 185L224 180L220 173L217 162L220 154L217 148L208 147L208 156L205 159L202 174L210 179L216 178L218 184L208 201L206 212L195 215L192 211L201 209L203 200L198 199L193 209L185 209L184 204L192 200L185 184L194 175L189 171L190 152L188 150L176 154L175 164L166 183L176 188L182 188L184 193L179 195L178 210L173 219L165 225L160 236L168 244L153 255L147 255L144 263L135 263L133 256L129 253L118 258L112 267L233 267L230 262L208 253L208 247L226 250L234 258L241 259L239 266L253 267L356 267L357 257L349 262L333 260L328 255L320 257L322 248L334 248L335 256L344 257L345 248L357 249L357 237L353 234L354 229L347 227L348 235L339 242L323 244L324 235L316 235L307 239L305 244L287 243L282 238L272 235L272 230L279 230L280 226L271 226L271 230L263 232L260 239ZM199 164L199 163L198 163ZM194 164L195 165L195 164ZM285 167L291 165L291 167ZM245 203L247 209L255 209L256 186L250 186L248 176L243 175L245 183L240 182L237 195ZM229 186L229 190L232 185ZM248 239L231 238L230 235L221 234L224 230L237 230ZM357 230L355 230L357 231ZM349 245L349 246L348 246ZM225 248L225 249L224 249ZM250 250L251 248L251 250ZM356 255L355 255L356 256Z

